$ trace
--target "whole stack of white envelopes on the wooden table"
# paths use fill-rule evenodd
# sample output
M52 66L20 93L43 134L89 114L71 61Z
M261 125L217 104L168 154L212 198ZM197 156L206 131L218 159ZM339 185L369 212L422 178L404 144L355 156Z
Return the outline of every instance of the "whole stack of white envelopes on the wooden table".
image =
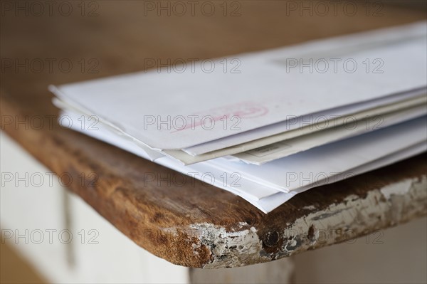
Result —
M50 89L64 127L268 213L426 151L426 31L413 23Z

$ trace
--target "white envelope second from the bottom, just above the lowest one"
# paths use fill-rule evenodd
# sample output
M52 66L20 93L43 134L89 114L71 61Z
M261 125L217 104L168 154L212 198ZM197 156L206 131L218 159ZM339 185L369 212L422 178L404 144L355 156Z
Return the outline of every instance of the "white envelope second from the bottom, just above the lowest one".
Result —
M206 161L228 172L284 192L311 186L427 140L427 117L325 144L260 166L219 158Z

